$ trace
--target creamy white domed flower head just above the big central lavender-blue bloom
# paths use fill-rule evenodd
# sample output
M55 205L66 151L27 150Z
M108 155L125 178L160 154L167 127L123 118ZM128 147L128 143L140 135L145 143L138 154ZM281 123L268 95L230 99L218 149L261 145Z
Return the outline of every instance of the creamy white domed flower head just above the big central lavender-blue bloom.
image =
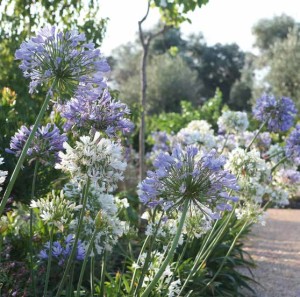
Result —
M211 125L204 120L190 122L186 128L177 133L174 141L184 145L197 144L207 149L216 146L214 131Z

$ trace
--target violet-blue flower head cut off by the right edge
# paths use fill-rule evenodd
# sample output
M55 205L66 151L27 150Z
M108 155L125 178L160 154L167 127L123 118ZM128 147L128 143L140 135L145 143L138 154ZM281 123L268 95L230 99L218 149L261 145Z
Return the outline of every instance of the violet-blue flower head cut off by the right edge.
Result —
M296 125L286 139L285 153L289 160L300 165L300 124Z

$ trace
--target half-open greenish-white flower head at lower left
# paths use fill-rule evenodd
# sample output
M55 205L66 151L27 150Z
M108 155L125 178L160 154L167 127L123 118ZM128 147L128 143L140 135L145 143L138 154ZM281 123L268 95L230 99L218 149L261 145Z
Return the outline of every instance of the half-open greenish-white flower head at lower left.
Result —
M67 200L64 192L60 191L59 195L52 191L46 198L32 200L31 208L37 208L39 216L48 225L54 225L63 231L72 221L74 212L81 208L80 205Z

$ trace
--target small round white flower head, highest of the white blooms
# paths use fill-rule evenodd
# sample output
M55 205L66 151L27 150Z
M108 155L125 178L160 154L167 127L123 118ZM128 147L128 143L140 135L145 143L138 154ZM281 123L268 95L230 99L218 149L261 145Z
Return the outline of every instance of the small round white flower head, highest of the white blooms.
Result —
M240 111L223 111L218 119L220 132L240 133L247 130L249 126L248 116Z

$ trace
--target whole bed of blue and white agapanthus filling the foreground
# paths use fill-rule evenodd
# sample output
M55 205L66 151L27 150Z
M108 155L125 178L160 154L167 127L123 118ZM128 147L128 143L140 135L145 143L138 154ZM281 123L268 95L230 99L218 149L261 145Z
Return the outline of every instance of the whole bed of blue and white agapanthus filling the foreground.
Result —
M293 125L289 98L260 98L253 114L261 126L252 131L245 112L227 110L215 125L200 119L156 133L146 177L124 193L135 153L123 136L133 124L109 93L100 50L76 30L47 27L16 58L31 93L47 88L36 123L20 127L6 150L18 157L9 181L0 170L0 252L9 257L16 239L26 243L28 296L230 296L228 270L231 280L249 281L231 266L251 264L240 238L264 223L268 205L287 205L300 183L300 126L275 141ZM47 109L59 120L41 127ZM11 205L24 166L34 168L30 203ZM59 172L42 191L41 166Z

